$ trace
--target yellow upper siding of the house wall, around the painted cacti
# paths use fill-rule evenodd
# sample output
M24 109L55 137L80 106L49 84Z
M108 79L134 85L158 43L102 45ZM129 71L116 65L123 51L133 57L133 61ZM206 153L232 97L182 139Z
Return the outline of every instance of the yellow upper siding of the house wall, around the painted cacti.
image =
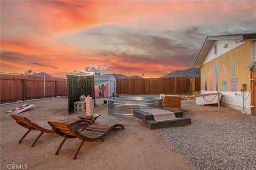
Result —
M229 52L215 58L214 60L201 66L201 90L205 90L205 82L207 83L207 91L216 90L216 70L215 67L218 63L218 91L240 91L242 83L246 84L246 91L250 90L250 71L247 66L250 66L250 42L247 42L241 46L238 46ZM233 68L233 63L237 64L236 68ZM225 79L225 67L226 67L226 79ZM235 70L233 70L235 69ZM232 75L232 70L234 71ZM234 76L234 77L233 77ZM235 83L230 82L230 78L233 80L237 78L237 87ZM227 81L225 85L222 85L222 81ZM211 85L211 84L212 85ZM225 84L225 83L224 83Z

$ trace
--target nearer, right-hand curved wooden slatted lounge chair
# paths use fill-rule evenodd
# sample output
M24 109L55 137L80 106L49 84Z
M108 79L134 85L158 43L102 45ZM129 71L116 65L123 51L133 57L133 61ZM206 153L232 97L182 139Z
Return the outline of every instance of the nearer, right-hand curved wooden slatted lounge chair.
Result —
M78 132L78 131L72 129L70 127L70 125L68 125L67 123L62 123L62 122L57 122L57 121L49 121L48 123L52 126L52 130L54 132L56 132L57 134L64 137L63 141L60 143L57 151L55 152L55 155L58 155L59 151L61 151L61 152L65 152L66 154L74 155L73 159L76 159L76 156L77 156L79 150L81 149L84 141L92 142L92 141L97 141L97 140L101 139L101 141L103 142L104 141L103 136L107 132L109 132L109 130L111 130L117 126L124 129L124 126L121 124L111 124L111 126L109 126L110 124L108 124L108 125L101 124L102 125L101 127L97 126L98 127L97 131L94 131L93 128L91 128L90 130L87 130L87 128L86 128L85 131ZM93 123L93 124L95 124L95 123ZM90 125L90 126L92 126L92 125ZM88 128L90 128L90 126ZM79 138L81 140L81 143L78 146L78 148L76 149L76 152L69 152L66 150L61 150L61 147L67 138Z

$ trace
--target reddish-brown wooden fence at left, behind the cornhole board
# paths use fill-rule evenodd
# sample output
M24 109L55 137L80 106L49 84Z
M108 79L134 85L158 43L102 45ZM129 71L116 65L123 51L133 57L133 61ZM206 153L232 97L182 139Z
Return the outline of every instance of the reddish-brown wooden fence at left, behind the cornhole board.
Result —
M35 98L67 96L65 78L0 74L1 103Z

